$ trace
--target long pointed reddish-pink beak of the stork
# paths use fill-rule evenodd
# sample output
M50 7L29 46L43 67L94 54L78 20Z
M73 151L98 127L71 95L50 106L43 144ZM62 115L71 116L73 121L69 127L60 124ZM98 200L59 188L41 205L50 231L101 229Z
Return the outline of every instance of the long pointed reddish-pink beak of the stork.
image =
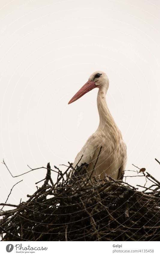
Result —
M78 100L80 97L82 97L84 94L88 93L95 87L97 87L97 85L93 81L86 82L86 84L84 84L82 88L80 88L80 90L71 98L68 104L71 104L72 102Z

